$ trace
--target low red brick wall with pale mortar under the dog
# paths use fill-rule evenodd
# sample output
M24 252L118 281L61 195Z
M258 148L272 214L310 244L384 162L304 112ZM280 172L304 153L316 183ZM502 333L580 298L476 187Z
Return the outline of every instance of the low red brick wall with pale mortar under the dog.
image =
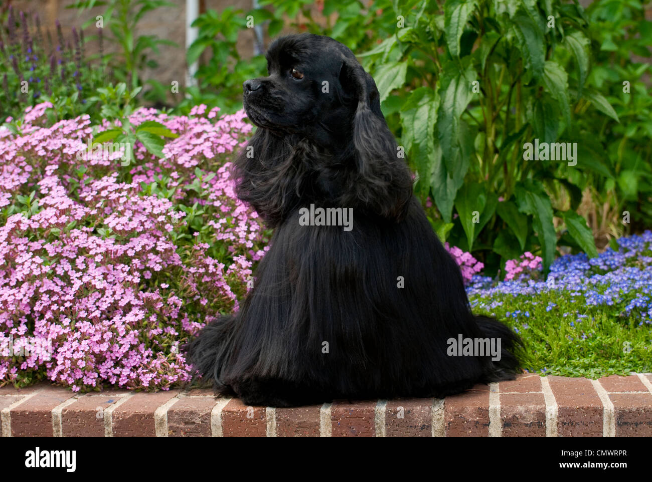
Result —
M454 397L246 406L210 390L0 388L1 436L652 436L652 374L525 374Z

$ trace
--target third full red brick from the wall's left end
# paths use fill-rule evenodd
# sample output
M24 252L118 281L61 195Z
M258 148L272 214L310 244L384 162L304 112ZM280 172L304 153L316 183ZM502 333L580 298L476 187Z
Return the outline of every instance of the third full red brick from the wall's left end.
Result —
M140 392L113 410L114 437L154 437L156 408L179 394L178 390Z

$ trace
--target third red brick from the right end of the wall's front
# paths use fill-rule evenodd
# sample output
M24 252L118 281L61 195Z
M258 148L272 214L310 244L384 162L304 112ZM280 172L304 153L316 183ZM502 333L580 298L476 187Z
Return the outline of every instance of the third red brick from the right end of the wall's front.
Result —
M503 437L546 436L546 401L543 393L501 393L500 418Z

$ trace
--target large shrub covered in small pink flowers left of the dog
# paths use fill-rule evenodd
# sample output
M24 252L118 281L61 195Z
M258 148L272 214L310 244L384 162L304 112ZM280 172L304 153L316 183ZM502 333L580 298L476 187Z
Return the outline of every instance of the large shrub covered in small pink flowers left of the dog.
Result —
M0 386L188 380L179 345L237 309L268 241L228 178L250 124L243 111L140 109L134 126L155 120L179 136L163 159L137 142L122 166L119 152L85 151L87 116L46 126L48 107L29 107L17 133L0 127ZM17 353L26 337L51 357Z

